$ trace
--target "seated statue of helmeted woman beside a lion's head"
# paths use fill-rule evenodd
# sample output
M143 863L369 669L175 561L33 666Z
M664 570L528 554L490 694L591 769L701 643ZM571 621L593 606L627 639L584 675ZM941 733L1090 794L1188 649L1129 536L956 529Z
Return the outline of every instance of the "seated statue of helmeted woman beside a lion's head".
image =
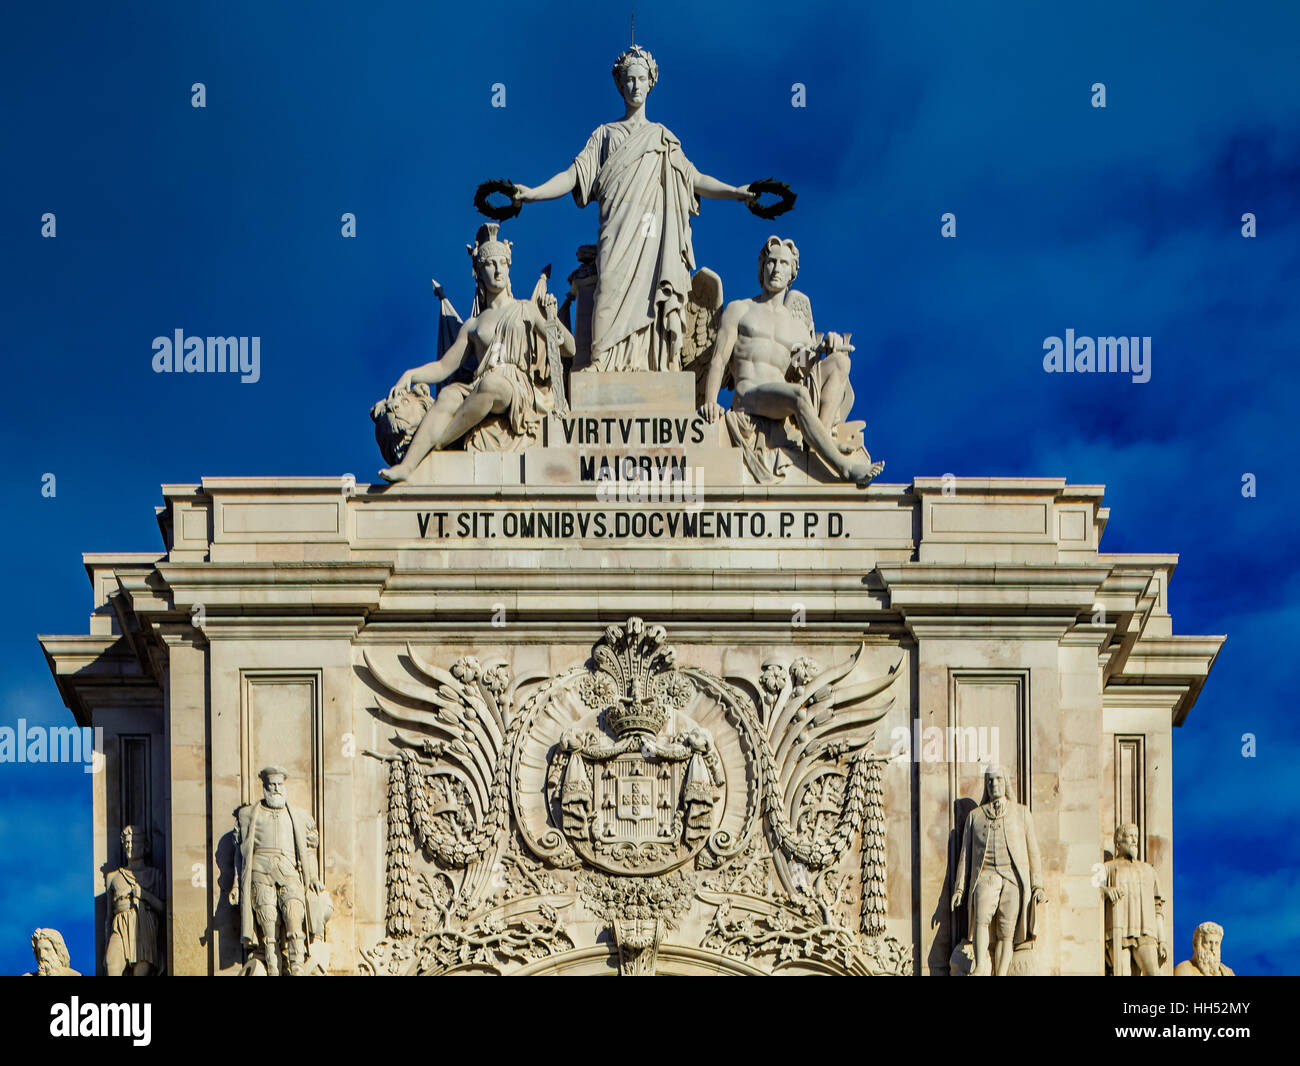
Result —
M437 400L428 406L404 452L398 456L400 462L380 471L380 477L387 481L406 481L430 451L446 448L478 430L493 415L503 416L497 436L536 437L551 407L550 389L538 389L533 381L534 374L552 373L547 344L556 348L556 355L573 356L573 337L559 321L555 298L542 292L536 302L516 300L511 294L511 243L498 240L497 230L495 222L480 226L477 239L468 246L478 294L474 312L455 342L442 359L402 374L387 400L370 412L381 417L381 408L393 410L413 387L446 382L460 369L467 355L477 358L469 384L454 381L438 390ZM554 363L559 365L558 359ZM508 451L510 441L494 439L486 447Z

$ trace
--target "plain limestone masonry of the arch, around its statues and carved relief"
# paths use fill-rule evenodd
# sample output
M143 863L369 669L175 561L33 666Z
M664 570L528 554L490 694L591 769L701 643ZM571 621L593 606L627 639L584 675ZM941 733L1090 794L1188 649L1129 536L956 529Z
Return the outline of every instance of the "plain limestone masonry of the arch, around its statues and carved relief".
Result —
M637 417L689 417L680 391L672 410ZM257 797L265 762L290 766L290 802L320 826L334 904L329 970L393 968L384 956L395 942L390 774L365 753L393 759L400 746L380 712L376 675L413 685L406 667L415 653L441 670L473 658L500 660L512 677L554 677L581 668L606 627L632 616L664 627L679 664L749 679L755 690L770 663L789 670L800 656L824 671L861 649L863 679L896 671L888 710L866 731L881 757L879 936L904 946L914 972L961 970L954 930L965 926L949 910L950 879L982 768L998 760L1011 796L1032 810L1048 900L1011 972L1104 972L1097 864L1112 857L1117 822L1134 822L1141 858L1171 888L1170 731L1222 642L1173 634L1175 556L1100 552L1109 512L1097 486L915 478L859 490L806 476L745 485L729 463L734 451L715 437L677 450L692 474L705 472L699 498L602 498L610 482L584 482L564 464L608 450L554 443L554 432L551 445L524 454L538 463L523 469L517 455L430 456L502 460L472 476L467 468L465 484L169 485L161 554L86 556L91 632L43 645L78 720L105 728L92 857L100 894L108 842L121 831L122 738L153 744L150 831L166 864L168 972L229 974L243 963L226 900L231 812ZM725 763L740 749L720 722L706 732ZM956 750L962 744L970 750ZM753 802L727 772L724 820ZM796 803L786 816L797 815ZM861 846L837 867L849 879L837 906L850 931L864 892L854 872ZM716 871L693 867L696 894L671 928L649 933L658 956L647 963L630 948L621 957L598 949L612 918L584 902L572 870L510 855L507 867L536 866L562 883L551 902L566 905L564 932L543 956L554 968L725 968L720 952L701 946L728 920L702 887ZM763 890L779 896L779 861L764 862ZM412 878L425 872L436 892L438 868L415 853ZM738 876L734 866L722 870ZM1166 920L1171 927L1171 898ZM621 930L624 945L640 942L636 932ZM736 968L767 972L774 962ZM546 968L540 959L493 963Z

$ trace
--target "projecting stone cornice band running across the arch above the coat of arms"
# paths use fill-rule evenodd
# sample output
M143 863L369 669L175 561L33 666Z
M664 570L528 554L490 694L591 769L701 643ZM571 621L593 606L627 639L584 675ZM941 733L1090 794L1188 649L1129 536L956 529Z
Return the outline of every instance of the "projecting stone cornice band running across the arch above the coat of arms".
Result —
M708 486L706 506L716 491L736 507L857 504L881 517L868 519L853 546L619 541L598 554L586 543L502 545L499 554L474 538L408 543L404 532L394 536L373 517L359 536L359 516L373 516L370 508L394 504L410 515L421 504L458 500L571 506L590 499L590 485L363 484L352 490L344 477L209 477L162 491L159 521L170 556L87 554L94 636L42 638L74 714L86 714L92 677L100 686L156 692L153 679L162 676L168 647L177 642L419 638L478 629L497 603L507 610L503 642L586 633L623 618L630 599L646 616L686 625L703 640L734 623L728 632L737 644L797 632L884 642L1052 640L1095 649L1105 690L1115 698L1148 689L1157 702L1173 699L1175 724L1223 642L1171 636L1167 588L1178 556L1098 552L1109 515L1102 488L1063 478L918 477L866 491L818 484ZM909 510L910 526L893 515ZM213 554L225 558L212 562ZM252 560L244 562L246 554ZM303 562L304 554L333 562ZM679 554L690 564L675 566ZM584 566L595 559L603 566ZM195 607L202 607L198 618ZM806 625L792 624L792 615ZM196 620L199 628L191 624Z

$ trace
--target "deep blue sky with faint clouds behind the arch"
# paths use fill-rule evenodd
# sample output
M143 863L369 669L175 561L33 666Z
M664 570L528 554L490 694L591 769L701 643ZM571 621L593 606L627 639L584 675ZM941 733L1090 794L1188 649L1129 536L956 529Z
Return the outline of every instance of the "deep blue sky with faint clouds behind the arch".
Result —
M1210 918L1238 972L1295 972L1300 8L642 6L647 114L701 170L800 195L777 222L706 202L697 260L734 298L768 233L798 242L819 325L854 334L883 480L1101 482L1105 550L1180 554L1175 632L1228 642L1175 734L1175 952ZM620 117L628 9L478 10L6 6L0 724L69 722L34 634L86 632L81 552L155 549L160 484L370 480L367 410L433 355L429 278L468 312L476 185L537 185ZM506 228L516 278L563 280L594 230L568 200L528 205ZM178 328L259 335L261 380L152 373ZM1152 337L1150 381L1045 374L1066 329ZM91 889L90 777L0 767L0 972L27 968L36 924L92 968Z

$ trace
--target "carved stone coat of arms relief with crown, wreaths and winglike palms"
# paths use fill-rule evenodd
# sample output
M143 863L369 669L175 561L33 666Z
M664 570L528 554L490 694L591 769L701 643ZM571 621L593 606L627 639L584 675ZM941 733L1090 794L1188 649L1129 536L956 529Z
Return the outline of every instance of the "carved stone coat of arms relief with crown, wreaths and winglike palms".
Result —
M365 654L394 727L367 753L389 776L365 972L911 972L870 728L898 664L871 676L863 645L722 677L638 618L586 663L552 673L551 654Z

